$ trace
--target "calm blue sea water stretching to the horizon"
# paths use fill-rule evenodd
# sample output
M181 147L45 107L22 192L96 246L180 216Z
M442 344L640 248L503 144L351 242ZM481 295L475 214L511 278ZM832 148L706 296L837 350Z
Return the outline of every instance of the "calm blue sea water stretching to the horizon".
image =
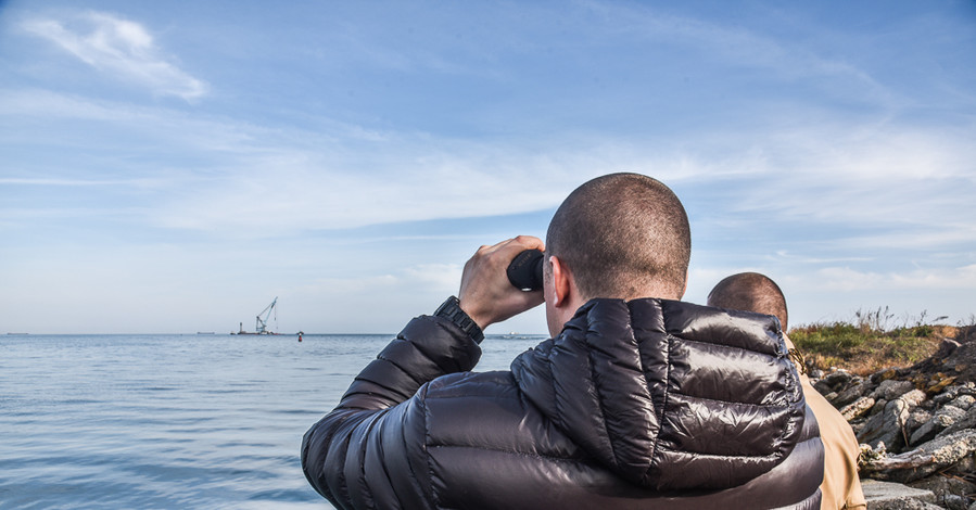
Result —
M0 336L0 508L329 508L302 434L392 337Z

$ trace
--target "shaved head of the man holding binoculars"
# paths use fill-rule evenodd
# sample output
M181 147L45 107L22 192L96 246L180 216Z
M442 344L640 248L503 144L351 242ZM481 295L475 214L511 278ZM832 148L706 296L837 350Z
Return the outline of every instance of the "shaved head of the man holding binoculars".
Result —
M611 174L562 202L546 232L546 252L572 271L586 299L677 299L692 254L688 217L660 181Z

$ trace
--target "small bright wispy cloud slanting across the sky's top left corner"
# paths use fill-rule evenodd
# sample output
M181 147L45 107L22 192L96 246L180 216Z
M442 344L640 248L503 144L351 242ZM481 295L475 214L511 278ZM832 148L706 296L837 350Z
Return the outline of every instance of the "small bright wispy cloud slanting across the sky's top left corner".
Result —
M22 26L100 72L149 87L154 93L190 101L207 91L206 84L180 69L139 23L88 12L71 20L34 18Z

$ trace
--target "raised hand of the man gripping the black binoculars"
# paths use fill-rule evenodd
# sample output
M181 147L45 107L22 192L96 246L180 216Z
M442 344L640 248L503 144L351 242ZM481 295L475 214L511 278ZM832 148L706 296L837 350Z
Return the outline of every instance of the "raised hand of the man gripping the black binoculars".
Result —
M494 246L481 246L461 275L460 307L484 330L542 304L543 291L523 292L512 286L505 270L524 250L545 250L538 238L519 235Z

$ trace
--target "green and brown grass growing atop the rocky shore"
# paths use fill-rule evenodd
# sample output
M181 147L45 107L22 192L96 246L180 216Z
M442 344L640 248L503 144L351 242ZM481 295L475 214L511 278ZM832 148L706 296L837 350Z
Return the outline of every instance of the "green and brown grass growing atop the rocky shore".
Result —
M959 328L938 324L946 317L904 317L892 327L888 308L854 313L852 320L817 322L794 328L789 339L808 365L825 370L844 368L860 375L890 367L908 367L931 356L942 339ZM962 327L962 324L960 324Z

